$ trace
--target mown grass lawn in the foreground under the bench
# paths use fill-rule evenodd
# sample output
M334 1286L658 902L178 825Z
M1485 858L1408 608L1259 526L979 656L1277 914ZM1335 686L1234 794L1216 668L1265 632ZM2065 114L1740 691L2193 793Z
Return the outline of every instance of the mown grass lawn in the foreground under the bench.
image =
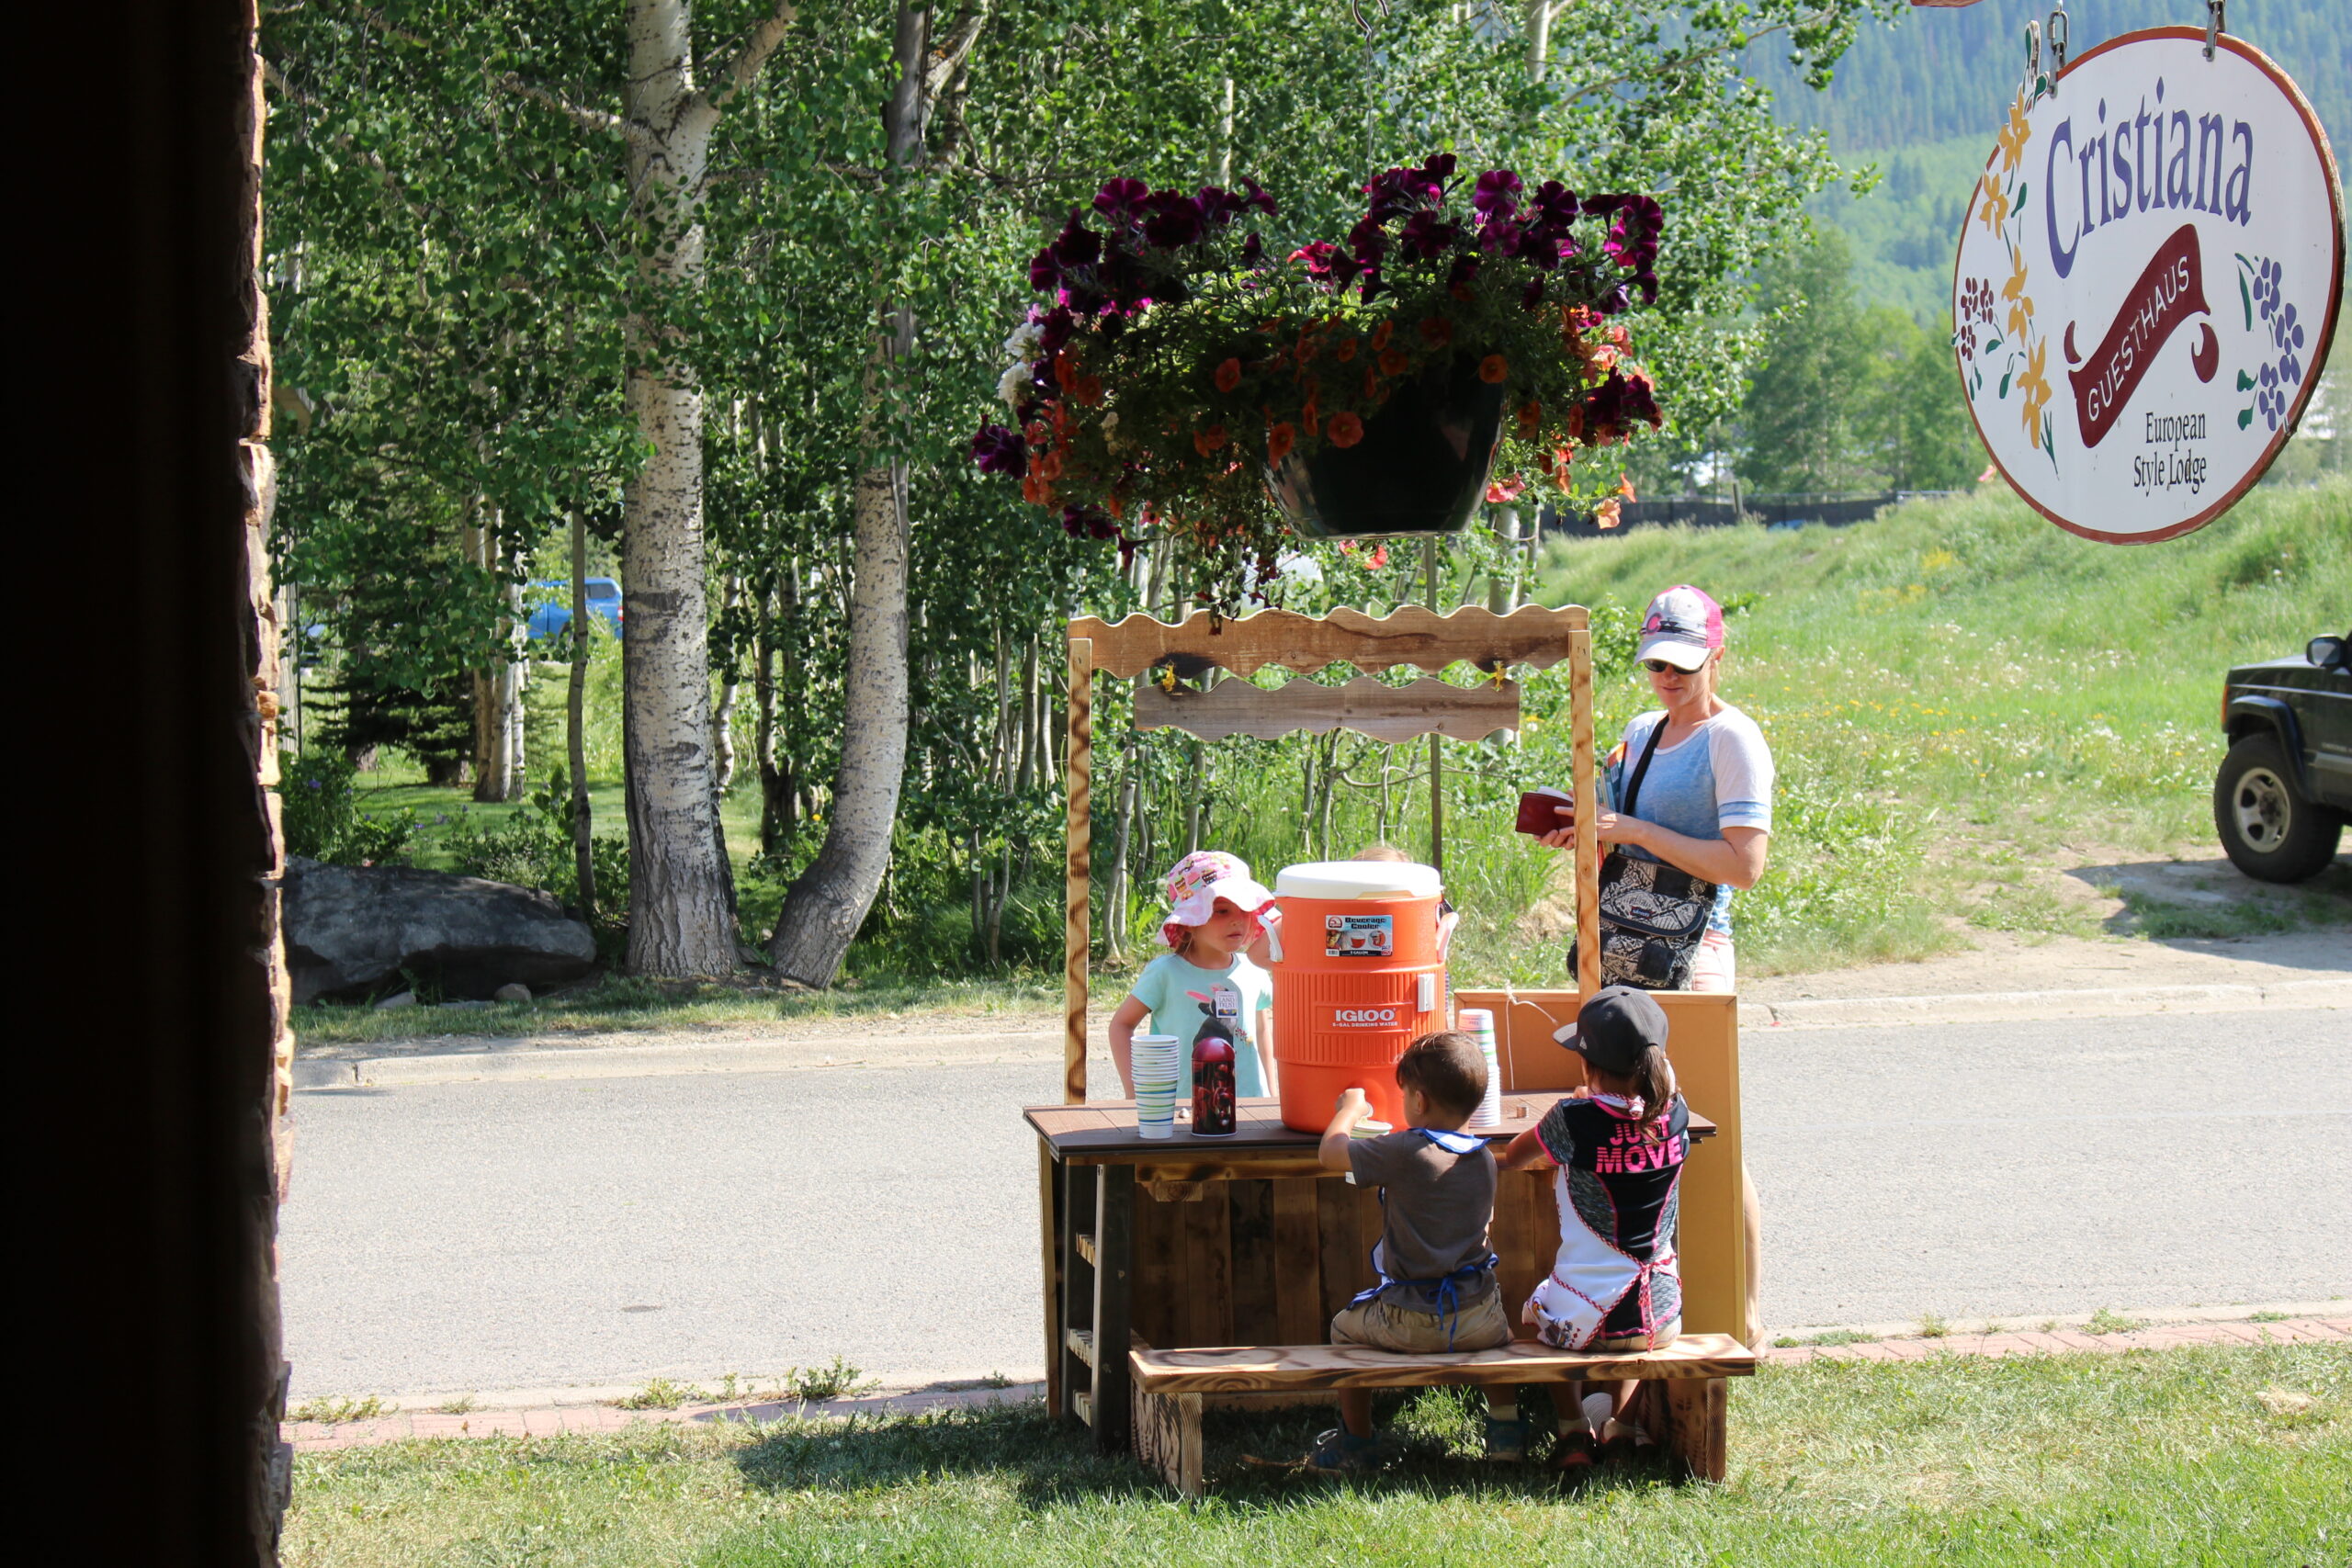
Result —
M1209 1418L1188 1507L1042 1406L296 1460L285 1561L393 1563L2345 1563L2338 1347L1811 1363L1733 1382L1724 1486L1564 1495L1472 1460L1454 1392L1383 1406L1364 1481L1242 1467L1322 1410Z

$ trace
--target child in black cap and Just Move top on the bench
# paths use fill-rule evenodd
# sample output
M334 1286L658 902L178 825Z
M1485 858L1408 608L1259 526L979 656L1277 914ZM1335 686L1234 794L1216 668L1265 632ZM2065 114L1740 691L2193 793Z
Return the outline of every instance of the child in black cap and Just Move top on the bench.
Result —
M1557 1166L1559 1258L1519 1319L1559 1349L1658 1349L1682 1335L1675 1213L1691 1107L1665 1060L1665 1011L1632 985L1592 992L1555 1039L1585 1058L1585 1086L1510 1140L1505 1171ZM1635 1441L1637 1382L1606 1394L1602 1443ZM1581 1392L1581 1389L1578 1389ZM1559 1420L1564 1469L1592 1465L1595 1413Z

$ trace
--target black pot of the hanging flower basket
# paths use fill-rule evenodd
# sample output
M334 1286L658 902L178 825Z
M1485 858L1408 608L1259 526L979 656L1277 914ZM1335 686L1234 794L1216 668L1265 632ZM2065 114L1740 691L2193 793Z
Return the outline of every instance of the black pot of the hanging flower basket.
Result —
M1486 496L1501 430L1503 388L1458 355L1390 393L1355 447L1291 451L1265 487L1305 538L1461 534Z

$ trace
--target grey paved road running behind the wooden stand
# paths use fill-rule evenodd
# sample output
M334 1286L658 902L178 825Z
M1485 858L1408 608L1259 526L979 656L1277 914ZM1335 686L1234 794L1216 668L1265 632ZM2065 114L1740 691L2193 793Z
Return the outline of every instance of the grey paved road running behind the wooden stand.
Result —
M1750 1032L1771 1324L2352 1293L2352 1011ZM296 1098L296 1399L1035 1375L1037 1065Z

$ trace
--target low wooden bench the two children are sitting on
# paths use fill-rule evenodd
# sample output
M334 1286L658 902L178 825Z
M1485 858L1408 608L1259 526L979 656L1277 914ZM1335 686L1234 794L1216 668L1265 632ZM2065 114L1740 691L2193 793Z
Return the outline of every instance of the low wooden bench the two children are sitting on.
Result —
M1724 1378L1757 1371L1755 1352L1729 1333L1686 1333L1665 1349L1571 1354L1512 1340L1501 1349L1399 1356L1357 1345L1256 1345L1127 1354L1136 1458L1188 1497L1202 1493L1202 1394L1303 1394L1317 1389L1421 1389L1442 1385L1656 1380L1665 1399L1642 1399L1642 1427L1705 1481L1724 1479Z

